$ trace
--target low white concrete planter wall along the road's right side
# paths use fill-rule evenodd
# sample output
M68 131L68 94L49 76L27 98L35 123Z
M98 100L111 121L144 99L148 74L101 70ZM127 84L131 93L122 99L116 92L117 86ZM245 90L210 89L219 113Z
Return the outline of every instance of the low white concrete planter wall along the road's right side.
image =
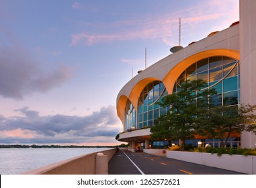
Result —
M217 154L202 152L179 152L167 150L167 158L184 160L209 167L226 169L245 174L256 174L256 156L243 156L237 154Z

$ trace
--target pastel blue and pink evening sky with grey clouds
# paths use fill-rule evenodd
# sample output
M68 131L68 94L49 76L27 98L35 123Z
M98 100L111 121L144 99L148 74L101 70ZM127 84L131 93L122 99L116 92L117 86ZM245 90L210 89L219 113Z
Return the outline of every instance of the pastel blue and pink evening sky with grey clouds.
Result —
M0 0L0 144L119 145L116 97L169 49L239 21L239 0Z

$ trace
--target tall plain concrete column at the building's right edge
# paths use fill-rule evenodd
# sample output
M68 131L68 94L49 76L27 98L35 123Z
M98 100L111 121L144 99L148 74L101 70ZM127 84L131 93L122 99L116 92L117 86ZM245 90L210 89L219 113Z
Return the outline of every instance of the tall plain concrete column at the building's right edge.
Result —
M256 1L239 1L239 36L241 57L241 104L256 104ZM256 136L251 132L241 134L241 147L253 148Z

